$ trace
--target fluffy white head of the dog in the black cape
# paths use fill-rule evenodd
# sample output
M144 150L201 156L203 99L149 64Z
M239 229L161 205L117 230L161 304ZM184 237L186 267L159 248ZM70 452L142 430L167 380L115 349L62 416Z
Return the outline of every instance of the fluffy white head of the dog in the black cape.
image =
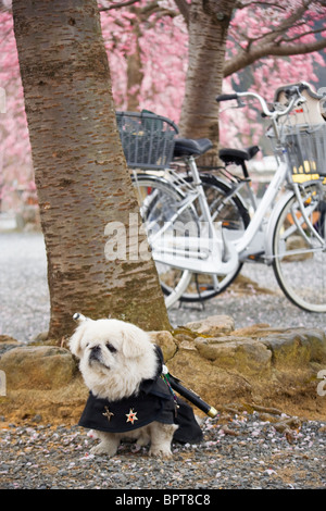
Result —
M70 341L92 394L110 400L128 397L156 370L154 346L147 333L118 320L84 319Z

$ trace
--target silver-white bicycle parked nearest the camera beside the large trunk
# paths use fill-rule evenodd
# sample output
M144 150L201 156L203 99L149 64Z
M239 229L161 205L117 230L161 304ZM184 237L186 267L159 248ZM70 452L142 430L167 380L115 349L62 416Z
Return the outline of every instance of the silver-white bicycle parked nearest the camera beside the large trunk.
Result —
M154 167L147 166L150 174L134 172L152 257L167 295L167 308L179 299L195 299L196 294L188 290L193 275L211 275L212 289L204 291L210 298L233 282L243 262L254 260L273 266L280 288L294 304L312 312L326 311L326 275L323 274L326 130L324 119L319 115L317 123L315 119L312 121L306 108L312 97L315 100L321 97L305 83L280 88L277 95L283 98L283 104L277 101L271 110L255 92L217 98L218 101L258 100L263 114L272 122L278 166L252 217L239 194L246 180L230 183L199 173L196 158L210 149L208 139L175 138L173 154L187 163L188 175L166 169L170 162L163 160ZM163 117L154 117L153 123L165 122ZM142 132L138 130L138 138L145 133L149 135L143 120L140 124ZM141 162L133 164L128 158L130 144L123 147L128 164L143 169ZM277 197L284 187L286 191ZM271 212L268 216L267 212Z

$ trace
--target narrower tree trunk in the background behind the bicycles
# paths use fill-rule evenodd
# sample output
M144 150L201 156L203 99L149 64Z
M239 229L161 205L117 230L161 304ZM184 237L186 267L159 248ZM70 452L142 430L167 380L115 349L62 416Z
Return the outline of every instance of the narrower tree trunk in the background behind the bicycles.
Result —
M218 104L222 90L227 30L235 0L191 0L189 65L179 127L190 138L210 138L213 150L201 163L216 164Z

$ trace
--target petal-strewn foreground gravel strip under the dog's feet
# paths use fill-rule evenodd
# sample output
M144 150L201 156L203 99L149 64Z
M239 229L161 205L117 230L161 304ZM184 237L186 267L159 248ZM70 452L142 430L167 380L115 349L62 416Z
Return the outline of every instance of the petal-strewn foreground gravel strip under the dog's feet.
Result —
M124 444L112 459L89 453L97 441L79 427L10 425L0 433L2 489L322 489L326 425L285 429L246 411L208 419L199 445L173 445L173 459ZM286 417L281 417L286 420ZM293 427L293 423L292 423Z

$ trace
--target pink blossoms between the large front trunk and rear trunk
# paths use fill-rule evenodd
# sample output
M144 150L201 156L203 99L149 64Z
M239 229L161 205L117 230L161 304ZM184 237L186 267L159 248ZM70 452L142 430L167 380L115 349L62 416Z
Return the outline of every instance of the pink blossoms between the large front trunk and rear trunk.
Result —
M113 9L112 2L101 3L116 105L131 111L146 108L177 122L188 30L174 1L142 0L120 9Z

